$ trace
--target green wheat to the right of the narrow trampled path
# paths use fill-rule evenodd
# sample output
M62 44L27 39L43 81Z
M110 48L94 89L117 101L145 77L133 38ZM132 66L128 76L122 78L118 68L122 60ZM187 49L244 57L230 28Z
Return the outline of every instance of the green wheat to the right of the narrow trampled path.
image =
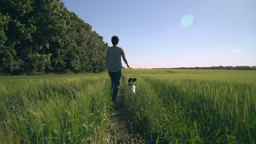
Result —
M149 143L255 143L255 76L216 70L137 74L136 97L128 102L132 125Z

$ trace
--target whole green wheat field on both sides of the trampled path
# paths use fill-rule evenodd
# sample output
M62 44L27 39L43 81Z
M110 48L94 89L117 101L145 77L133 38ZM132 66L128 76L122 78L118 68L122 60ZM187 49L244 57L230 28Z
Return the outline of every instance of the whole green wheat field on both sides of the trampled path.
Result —
M123 69L110 96L108 72L1 76L0 144L256 143L256 71Z

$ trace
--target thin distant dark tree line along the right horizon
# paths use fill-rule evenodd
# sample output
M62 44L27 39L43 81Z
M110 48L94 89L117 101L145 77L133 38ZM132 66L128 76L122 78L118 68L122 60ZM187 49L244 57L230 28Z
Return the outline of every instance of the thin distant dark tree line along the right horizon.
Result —
M156 68L158 69L158 68ZM194 70L256 70L256 66L211 66L211 67L181 67L181 68L159 68L159 69L194 69Z

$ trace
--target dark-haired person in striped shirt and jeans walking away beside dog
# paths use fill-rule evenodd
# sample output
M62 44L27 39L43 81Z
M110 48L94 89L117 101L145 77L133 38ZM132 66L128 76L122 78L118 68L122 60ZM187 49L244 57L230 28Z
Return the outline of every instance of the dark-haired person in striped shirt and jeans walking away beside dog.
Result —
M112 83L111 84L112 101L116 103L117 94L119 92L119 87L121 84L121 77L122 77L121 56L122 56L122 60L127 65L127 67L130 69L131 67L128 65L123 49L121 47L118 47L118 44L119 44L118 36L112 36L111 42L113 46L107 48L106 62L107 62L107 69L108 69L109 76Z

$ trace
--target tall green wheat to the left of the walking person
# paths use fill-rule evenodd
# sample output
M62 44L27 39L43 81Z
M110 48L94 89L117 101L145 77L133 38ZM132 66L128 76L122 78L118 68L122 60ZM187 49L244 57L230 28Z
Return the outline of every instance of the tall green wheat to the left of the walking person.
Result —
M110 107L108 77L1 77L0 143L101 141Z

